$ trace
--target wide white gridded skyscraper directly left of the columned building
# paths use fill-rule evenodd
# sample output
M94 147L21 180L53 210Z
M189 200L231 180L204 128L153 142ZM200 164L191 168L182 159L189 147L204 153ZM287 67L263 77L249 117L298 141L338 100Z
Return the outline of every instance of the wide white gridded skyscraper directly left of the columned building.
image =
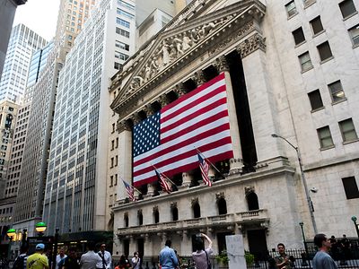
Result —
M43 217L60 233L112 229L107 178L116 160L108 163L106 158L109 133L115 129L109 124L109 78L135 52L137 8L145 6L148 16L169 5L144 2L101 1L61 71ZM170 7L166 11L174 13L174 4Z

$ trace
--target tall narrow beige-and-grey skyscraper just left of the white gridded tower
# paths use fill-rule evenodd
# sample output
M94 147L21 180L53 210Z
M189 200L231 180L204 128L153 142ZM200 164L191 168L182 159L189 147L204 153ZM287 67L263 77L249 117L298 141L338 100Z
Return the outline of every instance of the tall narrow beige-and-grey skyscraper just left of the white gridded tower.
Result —
M93 4L95 1L61 1L54 48L46 51L47 63L45 66L39 66L43 70L36 74L37 82L29 87L29 92L25 95L25 99L31 101L31 106L28 108L28 129L23 145L22 172L13 213L13 228L26 228L30 235L34 232L36 222L42 218L58 75L65 65L66 54L73 46L73 41L88 18ZM75 22L74 25L72 22ZM67 39L72 40L71 44ZM30 83L33 78L31 76Z

